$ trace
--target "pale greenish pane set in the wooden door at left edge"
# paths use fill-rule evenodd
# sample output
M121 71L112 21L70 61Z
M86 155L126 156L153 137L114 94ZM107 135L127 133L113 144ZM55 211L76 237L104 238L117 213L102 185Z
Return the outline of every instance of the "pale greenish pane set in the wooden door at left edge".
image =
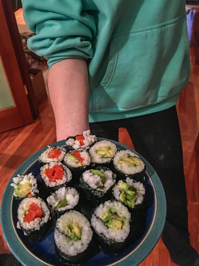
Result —
M3 66L0 61L0 109L13 106L14 101L6 80Z

